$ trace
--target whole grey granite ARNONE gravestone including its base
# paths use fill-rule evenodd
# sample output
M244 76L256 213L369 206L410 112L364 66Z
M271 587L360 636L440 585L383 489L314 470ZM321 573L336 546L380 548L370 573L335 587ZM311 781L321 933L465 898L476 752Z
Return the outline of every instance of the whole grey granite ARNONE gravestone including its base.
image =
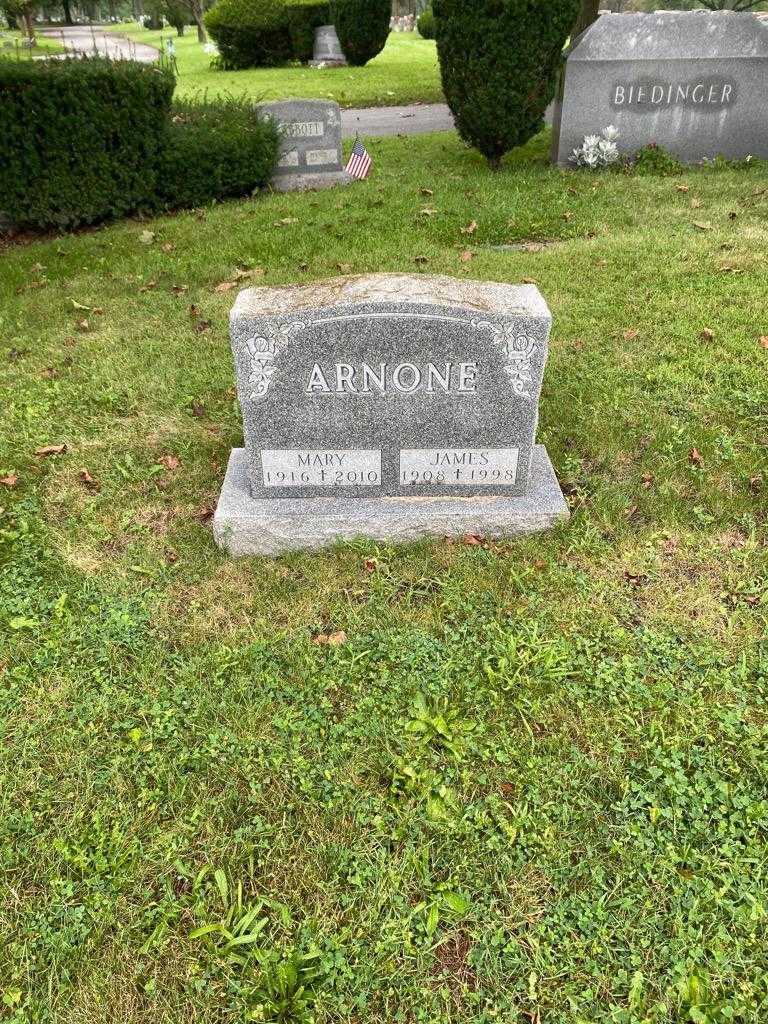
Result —
M551 314L532 285L374 274L241 292L232 554L499 537L567 518L536 443Z

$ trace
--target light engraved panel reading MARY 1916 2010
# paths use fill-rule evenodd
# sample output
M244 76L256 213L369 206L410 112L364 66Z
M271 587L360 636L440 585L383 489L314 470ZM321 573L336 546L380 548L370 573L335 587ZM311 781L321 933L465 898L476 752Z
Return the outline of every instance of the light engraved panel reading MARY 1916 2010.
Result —
M261 452L265 487L378 487L378 449L266 449Z

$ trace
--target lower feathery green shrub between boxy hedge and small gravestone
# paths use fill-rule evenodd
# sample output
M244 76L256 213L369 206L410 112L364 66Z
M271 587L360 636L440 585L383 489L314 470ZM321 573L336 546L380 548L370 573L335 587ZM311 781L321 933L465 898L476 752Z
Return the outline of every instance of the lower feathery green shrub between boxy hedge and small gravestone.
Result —
M172 209L249 196L269 180L279 144L278 129L246 99L175 103L158 203Z

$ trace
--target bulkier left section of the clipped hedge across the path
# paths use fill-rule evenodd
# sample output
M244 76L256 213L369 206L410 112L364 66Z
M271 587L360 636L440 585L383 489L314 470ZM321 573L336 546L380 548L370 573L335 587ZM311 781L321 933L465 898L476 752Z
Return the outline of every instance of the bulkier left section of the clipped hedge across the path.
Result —
M218 0L205 23L225 70L273 67L293 56L283 0Z

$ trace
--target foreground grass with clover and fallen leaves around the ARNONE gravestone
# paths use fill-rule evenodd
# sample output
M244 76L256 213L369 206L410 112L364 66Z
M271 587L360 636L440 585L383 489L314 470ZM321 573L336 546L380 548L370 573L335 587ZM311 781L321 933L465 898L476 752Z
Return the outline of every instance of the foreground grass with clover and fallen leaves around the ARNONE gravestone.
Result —
M766 1019L765 170L546 143L2 252L7 1020ZM242 268L534 279L570 523L218 552Z

